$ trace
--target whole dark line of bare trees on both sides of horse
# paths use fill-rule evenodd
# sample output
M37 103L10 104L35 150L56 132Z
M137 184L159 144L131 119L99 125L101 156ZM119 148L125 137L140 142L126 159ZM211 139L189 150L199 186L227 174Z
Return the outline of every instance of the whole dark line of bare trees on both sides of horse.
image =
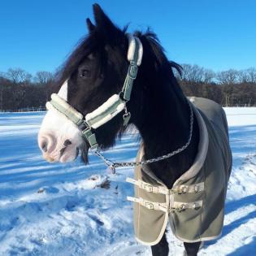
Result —
M210 98L222 106L256 106L256 68L213 72L197 65L183 64L175 72L185 95ZM32 76L21 68L0 72L0 111L45 106L54 85L54 74Z

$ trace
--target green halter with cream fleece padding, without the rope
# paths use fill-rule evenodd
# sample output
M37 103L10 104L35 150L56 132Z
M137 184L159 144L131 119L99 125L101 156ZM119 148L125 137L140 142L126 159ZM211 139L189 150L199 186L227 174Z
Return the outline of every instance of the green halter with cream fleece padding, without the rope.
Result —
M124 80L124 86L119 94L114 94L95 111L82 115L75 108L67 103L67 81L62 85L59 93L51 95L51 101L46 103L47 110L55 109L70 119L82 132L83 137L89 142L91 150L98 150L98 142L93 129L99 128L103 124L113 119L121 111L124 111L124 126L128 124L131 113L128 112L126 102L130 100L133 81L137 77L138 66L141 65L143 48L141 41L132 34L128 37L128 55L130 62L128 73Z

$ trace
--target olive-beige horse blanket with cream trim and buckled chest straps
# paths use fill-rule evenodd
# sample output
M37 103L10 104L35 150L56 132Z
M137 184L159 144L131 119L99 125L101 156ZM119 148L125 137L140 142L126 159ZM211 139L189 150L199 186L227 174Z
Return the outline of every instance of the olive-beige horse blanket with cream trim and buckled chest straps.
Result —
M206 98L190 98L200 139L193 165L172 189L154 176L147 165L135 168L134 231L137 241L156 245L167 222L185 242L217 238L223 228L224 201L232 168L228 124L223 108ZM137 161L143 158L143 145Z

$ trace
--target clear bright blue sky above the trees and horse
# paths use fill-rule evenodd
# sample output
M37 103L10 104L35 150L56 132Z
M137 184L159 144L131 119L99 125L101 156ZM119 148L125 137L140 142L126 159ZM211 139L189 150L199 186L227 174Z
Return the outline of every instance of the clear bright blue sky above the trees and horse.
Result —
M90 0L2 0L0 72L21 67L53 72L93 19ZM222 71L256 67L254 0L98 1L111 20L129 30L150 26L169 59Z

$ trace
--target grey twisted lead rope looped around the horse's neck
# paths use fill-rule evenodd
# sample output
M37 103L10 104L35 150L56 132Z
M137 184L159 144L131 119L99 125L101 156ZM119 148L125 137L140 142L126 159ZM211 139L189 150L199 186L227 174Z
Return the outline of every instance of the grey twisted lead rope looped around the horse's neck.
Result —
M158 161L162 161L164 159L167 158L171 158L172 156L179 154L180 152L184 151L190 144L191 142L191 138L192 138L192 134L193 134L193 110L192 110L192 106L191 103L188 101L189 104L189 110L190 110L190 128L189 128L189 140L187 141L187 143L185 145L183 145L182 147L180 147L177 150L172 151L171 153L168 154L164 154L162 156L159 156L157 158L150 158L148 160L145 161L138 161L138 162L112 162L111 160L109 160L108 158L105 158L101 153L100 150L95 150L93 151L93 154L97 155L99 158L102 159L102 161L106 164L107 167L109 167L112 171L112 173L115 173L115 168L118 167L136 167L136 166L142 166L146 163L155 163Z

